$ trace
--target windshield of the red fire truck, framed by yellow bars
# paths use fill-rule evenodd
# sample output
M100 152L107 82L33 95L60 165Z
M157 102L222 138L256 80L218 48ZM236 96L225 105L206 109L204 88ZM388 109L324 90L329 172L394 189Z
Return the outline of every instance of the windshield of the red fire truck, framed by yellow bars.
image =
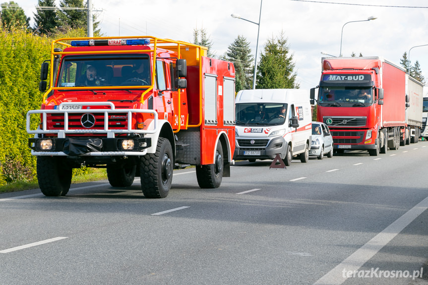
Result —
M57 87L151 85L147 55L65 56L60 68Z

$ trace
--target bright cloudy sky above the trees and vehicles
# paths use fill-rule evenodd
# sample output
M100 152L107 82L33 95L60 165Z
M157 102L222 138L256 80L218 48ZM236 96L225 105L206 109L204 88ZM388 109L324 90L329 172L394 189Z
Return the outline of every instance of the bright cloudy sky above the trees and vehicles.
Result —
M37 0L14 1L34 23ZM92 0L92 3L105 36L149 35L191 42L193 29L204 28L216 56L223 55L238 35L248 40L255 53L257 25L232 18L231 14L257 23L260 0ZM344 26L370 16L377 19ZM343 56L362 53L400 65L404 52L409 53L414 46L428 45L428 0L263 0L258 54L268 38L283 31L301 88L312 88L319 82L321 57L326 57L321 52L339 56L343 26ZM427 55L428 46L410 52L412 64L419 61L428 81Z

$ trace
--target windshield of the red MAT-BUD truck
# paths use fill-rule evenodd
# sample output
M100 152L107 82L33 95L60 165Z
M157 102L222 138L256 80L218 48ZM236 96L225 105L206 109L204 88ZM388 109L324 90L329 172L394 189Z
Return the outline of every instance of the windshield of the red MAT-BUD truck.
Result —
M373 103L373 89L320 87L318 103L322 107L366 107Z

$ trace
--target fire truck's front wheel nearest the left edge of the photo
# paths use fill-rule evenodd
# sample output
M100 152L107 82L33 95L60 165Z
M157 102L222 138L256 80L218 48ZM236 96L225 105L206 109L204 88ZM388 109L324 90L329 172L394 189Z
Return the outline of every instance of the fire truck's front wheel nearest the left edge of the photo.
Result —
M37 157L37 178L45 196L65 196L70 189L72 169L62 157Z

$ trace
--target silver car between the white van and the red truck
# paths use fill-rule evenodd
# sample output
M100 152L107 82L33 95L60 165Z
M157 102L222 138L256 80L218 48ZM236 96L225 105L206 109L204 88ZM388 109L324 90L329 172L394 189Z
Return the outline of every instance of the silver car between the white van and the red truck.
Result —
M323 159L324 154L328 158L333 157L333 137L328 126L322 122L312 122L312 145L309 156Z

